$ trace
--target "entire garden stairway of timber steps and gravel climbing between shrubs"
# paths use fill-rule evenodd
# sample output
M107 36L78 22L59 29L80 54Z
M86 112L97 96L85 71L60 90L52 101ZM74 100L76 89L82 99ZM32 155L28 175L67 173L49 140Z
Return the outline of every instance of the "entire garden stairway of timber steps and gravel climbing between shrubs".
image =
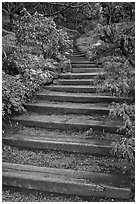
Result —
M32 189L39 201L130 200L127 161L112 154L122 123L108 118L112 101L130 99L97 94L93 79L103 69L76 47L70 59L72 72L43 87L27 113L12 119L18 130L3 138L5 201L7 194L25 201Z

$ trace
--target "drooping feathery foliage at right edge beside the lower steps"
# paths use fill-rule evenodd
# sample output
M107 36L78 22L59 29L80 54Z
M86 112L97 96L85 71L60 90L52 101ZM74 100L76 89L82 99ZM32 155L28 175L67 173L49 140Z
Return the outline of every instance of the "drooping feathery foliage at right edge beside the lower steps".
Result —
M124 157L129 160L130 165L134 166L135 161L135 105L126 103L113 103L109 113L110 119L121 119L124 124L117 130L124 137L118 139L112 145L113 152L118 157Z

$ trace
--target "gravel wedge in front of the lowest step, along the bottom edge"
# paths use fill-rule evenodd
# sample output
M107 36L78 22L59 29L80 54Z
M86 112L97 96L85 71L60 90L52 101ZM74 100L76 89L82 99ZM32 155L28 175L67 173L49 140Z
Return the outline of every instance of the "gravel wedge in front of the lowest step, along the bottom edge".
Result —
M125 202L125 200L68 196L3 186L2 202Z

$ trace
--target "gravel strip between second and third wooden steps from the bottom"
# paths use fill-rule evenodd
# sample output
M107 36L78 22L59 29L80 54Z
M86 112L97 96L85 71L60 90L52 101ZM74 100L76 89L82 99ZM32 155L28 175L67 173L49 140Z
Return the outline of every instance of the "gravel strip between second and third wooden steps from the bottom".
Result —
M111 141L117 141L118 139L122 138L122 135L117 134L110 134L103 131L92 130L89 131L74 131L74 130L51 130L51 129L44 129L44 128L33 128L33 127L23 127L18 126L10 130L8 128L8 132L5 131L3 134L3 138L10 137L11 134L20 134L20 135L30 135L36 137L50 137L50 138L74 138L74 139L105 139Z

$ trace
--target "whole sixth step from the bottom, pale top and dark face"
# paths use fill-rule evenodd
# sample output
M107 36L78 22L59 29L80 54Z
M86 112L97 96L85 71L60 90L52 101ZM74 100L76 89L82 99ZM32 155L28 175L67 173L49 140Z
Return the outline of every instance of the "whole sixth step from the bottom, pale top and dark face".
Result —
M43 87L46 90L50 91L59 91L59 92L72 92L72 93L95 93L95 86L65 86L65 85L49 85Z

